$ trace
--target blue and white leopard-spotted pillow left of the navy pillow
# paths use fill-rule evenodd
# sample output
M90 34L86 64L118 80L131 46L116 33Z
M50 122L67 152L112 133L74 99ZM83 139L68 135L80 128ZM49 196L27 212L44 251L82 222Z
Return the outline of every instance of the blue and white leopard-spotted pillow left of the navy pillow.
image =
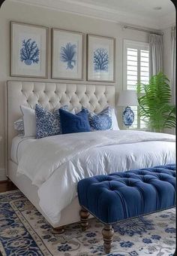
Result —
M65 105L63 109L68 109ZM60 117L58 109L53 113L40 105L35 106L35 116L36 116L36 139L54 136L62 133L60 126Z

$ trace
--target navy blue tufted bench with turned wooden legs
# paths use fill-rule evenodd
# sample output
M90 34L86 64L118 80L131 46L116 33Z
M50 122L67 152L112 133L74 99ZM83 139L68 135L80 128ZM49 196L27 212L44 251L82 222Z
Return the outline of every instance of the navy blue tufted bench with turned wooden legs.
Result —
M112 224L175 206L175 164L84 178L77 190L83 230L89 213L104 223L104 249L110 253Z

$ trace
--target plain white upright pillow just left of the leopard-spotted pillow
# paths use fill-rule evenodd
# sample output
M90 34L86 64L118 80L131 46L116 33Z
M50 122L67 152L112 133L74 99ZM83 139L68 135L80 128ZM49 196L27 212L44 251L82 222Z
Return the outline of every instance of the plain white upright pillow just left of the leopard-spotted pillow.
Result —
M32 108L28 108L24 105L20 106L23 113L23 127L25 137L35 137L36 136L36 117L35 111Z

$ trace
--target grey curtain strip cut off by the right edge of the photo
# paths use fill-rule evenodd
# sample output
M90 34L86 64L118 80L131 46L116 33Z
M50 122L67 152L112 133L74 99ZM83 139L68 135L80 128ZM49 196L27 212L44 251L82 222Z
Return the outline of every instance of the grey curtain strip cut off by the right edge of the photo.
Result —
M175 71L176 37L175 37L175 27L172 27L171 40L172 40L172 74L171 74L171 84L172 84L173 102L175 104L175 87L176 87L176 71Z

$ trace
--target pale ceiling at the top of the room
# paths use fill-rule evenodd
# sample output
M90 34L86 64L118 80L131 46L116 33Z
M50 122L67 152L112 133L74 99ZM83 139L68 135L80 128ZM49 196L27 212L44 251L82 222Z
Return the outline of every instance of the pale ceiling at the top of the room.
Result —
M170 0L7 0L66 11L87 17L164 29L175 23L175 6ZM160 10L154 8L160 7Z

